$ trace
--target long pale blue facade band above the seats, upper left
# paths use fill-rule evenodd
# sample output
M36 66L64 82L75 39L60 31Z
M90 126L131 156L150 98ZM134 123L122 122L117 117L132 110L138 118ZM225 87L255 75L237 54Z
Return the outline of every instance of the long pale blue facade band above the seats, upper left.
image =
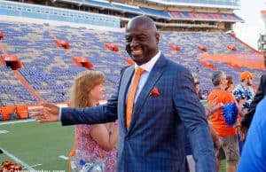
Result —
M102 27L121 27L120 18L115 16L8 1L0 1L0 15L66 21Z

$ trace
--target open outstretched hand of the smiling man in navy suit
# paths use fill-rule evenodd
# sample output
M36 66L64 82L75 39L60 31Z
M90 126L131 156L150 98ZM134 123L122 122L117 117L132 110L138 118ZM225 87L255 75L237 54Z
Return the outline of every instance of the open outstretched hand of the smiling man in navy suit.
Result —
M45 104L39 107L27 109L29 117L35 118L38 122L59 121L59 107L51 104Z

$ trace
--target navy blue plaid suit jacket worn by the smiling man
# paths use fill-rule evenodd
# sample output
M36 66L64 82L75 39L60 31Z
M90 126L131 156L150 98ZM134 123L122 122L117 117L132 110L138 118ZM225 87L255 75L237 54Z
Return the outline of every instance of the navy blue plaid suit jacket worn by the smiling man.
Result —
M204 107L195 93L192 74L184 66L160 56L125 127L125 98L134 66L125 69L106 105L86 109L63 108L63 125L93 124L119 119L119 172L184 171L184 129L191 141L197 172L215 171L214 147ZM153 88L160 95L151 96Z

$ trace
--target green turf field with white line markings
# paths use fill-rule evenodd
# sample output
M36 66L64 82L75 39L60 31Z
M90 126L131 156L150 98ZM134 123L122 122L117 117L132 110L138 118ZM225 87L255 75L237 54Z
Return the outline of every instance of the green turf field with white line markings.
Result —
M35 170L68 171L68 160L59 156L67 156L72 148L73 126L62 127L59 122L40 124L35 121L2 124L0 122L0 133L4 130L8 132L0 134L0 148L7 153L0 154L0 163L4 160L20 160L24 162L24 170L29 167Z

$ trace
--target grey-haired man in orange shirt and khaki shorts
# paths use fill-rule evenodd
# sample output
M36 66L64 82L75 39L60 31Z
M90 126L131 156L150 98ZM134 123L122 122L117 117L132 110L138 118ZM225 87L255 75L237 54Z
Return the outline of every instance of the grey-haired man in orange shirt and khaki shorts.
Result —
M235 103L235 98L225 88L228 86L226 75L222 71L215 71L212 75L212 82L215 86L211 90L207 102L214 102L216 105ZM215 105L214 105L215 106ZM216 152L217 170L220 171L221 161L226 160L226 171L235 172L239 162L239 142L237 129L228 125L223 118L223 106L210 115L215 132L222 140L222 147Z

